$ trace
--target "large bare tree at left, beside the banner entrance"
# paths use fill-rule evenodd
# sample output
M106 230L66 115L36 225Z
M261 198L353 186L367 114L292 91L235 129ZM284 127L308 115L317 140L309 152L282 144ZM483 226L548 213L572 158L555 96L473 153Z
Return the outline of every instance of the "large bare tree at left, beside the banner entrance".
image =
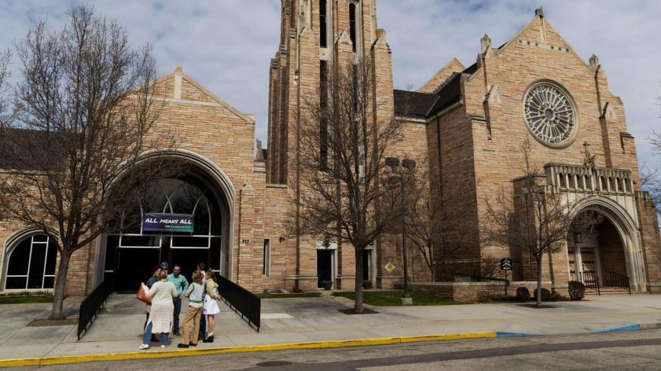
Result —
M176 142L148 135L162 107L151 48L132 49L125 30L90 7L69 16L59 32L37 21L16 43L16 118L0 130L8 169L0 204L9 218L59 242L50 319L65 317L72 254L116 228L168 171L166 161L147 164L141 155Z

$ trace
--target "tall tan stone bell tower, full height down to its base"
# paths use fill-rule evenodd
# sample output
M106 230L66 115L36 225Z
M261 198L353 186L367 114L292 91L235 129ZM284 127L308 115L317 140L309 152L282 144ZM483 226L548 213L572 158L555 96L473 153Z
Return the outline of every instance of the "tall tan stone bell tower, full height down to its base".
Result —
M280 45L269 69L266 183L286 185L294 197L300 194L295 166L302 102L318 97L324 104L326 76L335 69L351 68L361 58L369 58L375 69L371 118L392 115L390 47L385 32L377 29L376 12L376 0L282 0ZM322 126L319 124L319 135L323 136L328 128ZM324 148L319 152L325 156ZM286 268L288 289L316 289L318 241L313 236L298 237L286 244L292 251ZM353 247L340 244L334 254L336 287L353 287Z

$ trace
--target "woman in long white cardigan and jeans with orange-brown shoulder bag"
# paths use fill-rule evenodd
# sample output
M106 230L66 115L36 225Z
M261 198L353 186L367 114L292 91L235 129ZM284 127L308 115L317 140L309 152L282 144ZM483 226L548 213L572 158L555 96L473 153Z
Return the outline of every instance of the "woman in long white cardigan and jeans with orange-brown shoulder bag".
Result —
M172 282L167 281L167 271L161 269L158 274L160 281L156 282L151 289L147 291L147 296L151 297L151 311L149 311L149 322L145 328L143 345L139 349L149 349L149 339L151 335L160 333L160 347L165 348L168 343L170 329L172 328L172 315L174 313L174 304L172 298L177 297L177 289ZM145 290L144 282L140 282L141 289Z

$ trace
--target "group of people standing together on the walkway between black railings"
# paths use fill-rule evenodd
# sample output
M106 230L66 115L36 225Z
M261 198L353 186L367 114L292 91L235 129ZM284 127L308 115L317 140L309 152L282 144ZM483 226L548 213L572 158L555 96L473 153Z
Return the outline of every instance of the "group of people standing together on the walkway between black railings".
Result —
M154 267L151 271L153 275L147 284L140 283L140 289L145 290L147 297L151 297L151 303L145 308L145 336L139 349L149 349L151 341L159 341L156 334L160 334L160 347L165 348L169 342L170 331L172 335L182 337L179 348L197 346L200 338L203 343L213 343L216 314L220 313L216 273L211 269L205 271L204 263L199 263L196 271L193 271L192 282L189 283L181 274L179 265L174 265L172 273L169 274L167 267L167 262ZM188 298L188 311L181 334L179 315L183 297Z

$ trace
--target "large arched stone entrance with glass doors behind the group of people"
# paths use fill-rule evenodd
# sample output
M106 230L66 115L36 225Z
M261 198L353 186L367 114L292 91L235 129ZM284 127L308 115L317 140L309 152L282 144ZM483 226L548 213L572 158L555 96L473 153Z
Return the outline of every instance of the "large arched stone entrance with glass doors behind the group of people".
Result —
M118 291L135 291L161 262L167 262L169 270L180 265L188 280L198 262L223 276L231 275L234 193L229 178L211 161L193 153L170 151L158 157L184 157L185 175L154 181L143 205L127 210L120 231L104 235L98 246L97 282L113 275ZM192 230L150 230L143 223L146 213L191 216Z

